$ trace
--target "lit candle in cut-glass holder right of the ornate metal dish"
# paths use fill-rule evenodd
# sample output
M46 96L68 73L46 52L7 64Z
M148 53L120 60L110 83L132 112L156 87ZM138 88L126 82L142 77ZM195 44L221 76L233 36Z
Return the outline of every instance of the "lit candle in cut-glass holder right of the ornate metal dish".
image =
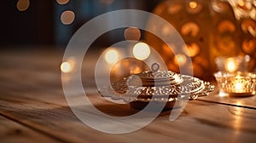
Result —
M256 93L256 74L246 72L249 60L248 55L215 59L219 72L214 77L218 82L220 96L248 96Z

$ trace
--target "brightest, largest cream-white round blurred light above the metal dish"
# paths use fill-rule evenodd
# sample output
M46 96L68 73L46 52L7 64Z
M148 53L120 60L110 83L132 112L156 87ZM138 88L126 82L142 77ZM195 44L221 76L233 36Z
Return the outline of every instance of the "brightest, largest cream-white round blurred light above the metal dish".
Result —
M150 54L150 48L147 43L137 43L134 45L132 53L137 60L146 60Z

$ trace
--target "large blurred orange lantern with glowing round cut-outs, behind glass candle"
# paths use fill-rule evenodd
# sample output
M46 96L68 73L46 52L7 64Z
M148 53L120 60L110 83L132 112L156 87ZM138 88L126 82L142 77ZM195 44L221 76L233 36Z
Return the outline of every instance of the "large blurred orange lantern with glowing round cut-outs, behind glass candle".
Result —
M173 47L172 43L163 43L150 33L145 34L145 39L160 52L169 70L173 72L179 72L179 66L187 66L186 59L191 58L194 76L212 80L213 73L217 72L214 63L216 57L245 54L251 57L247 70L252 71L256 66L256 20L253 17L256 15L256 3L240 0L241 3L234 5L232 0L229 1L164 1L154 9L154 14L172 24L186 45ZM240 9L238 14L245 13L244 16L240 14L237 18L237 9ZM172 33L165 26L157 30L164 35ZM189 50L186 54L172 53L172 50L185 48Z

